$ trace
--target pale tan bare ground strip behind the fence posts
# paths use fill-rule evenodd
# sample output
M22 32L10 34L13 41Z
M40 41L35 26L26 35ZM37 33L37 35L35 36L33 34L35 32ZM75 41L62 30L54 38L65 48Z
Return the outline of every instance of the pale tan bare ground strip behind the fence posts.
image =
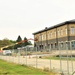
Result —
M35 55L34 55L35 56ZM72 72L75 71L75 61L65 61L65 60L49 60L49 59L40 59L34 58L34 56L0 56L0 59L14 62L18 64L25 64L29 66L33 66L36 68L49 68L54 69L56 71L64 71L64 72ZM61 66L60 66L61 63Z

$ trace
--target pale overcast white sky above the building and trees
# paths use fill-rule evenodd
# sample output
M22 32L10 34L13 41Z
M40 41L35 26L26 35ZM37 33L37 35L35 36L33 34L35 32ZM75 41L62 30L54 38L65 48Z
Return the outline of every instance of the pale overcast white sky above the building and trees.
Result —
M75 0L0 0L0 40L34 32L75 19Z

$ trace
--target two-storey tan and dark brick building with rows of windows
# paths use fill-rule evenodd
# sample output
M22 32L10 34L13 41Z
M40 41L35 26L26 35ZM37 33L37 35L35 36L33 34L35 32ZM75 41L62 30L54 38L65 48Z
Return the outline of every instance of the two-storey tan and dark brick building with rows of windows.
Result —
M51 50L75 49L75 20L66 21L58 25L45 28L33 33L34 46Z

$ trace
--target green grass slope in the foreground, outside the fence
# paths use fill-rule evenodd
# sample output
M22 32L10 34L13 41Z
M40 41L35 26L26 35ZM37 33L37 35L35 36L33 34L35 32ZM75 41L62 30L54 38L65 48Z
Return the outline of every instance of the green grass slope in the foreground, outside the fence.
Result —
M39 69L0 60L0 75L55 75Z

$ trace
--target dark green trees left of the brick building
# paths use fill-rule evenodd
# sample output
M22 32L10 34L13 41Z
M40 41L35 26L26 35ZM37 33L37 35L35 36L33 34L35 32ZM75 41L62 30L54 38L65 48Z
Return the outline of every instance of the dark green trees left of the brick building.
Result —
M5 46L8 46L8 47L3 48L5 50L7 50L7 49L17 49L19 47L25 47L27 45L32 45L31 41L27 40L26 37L24 37L23 40L26 40L26 41L21 42L22 41L22 38L21 38L20 35L18 36L18 38L17 38L16 41L9 40L9 39L5 38L3 40L0 40L0 48L5 47ZM21 43L16 44L18 42L21 42Z

